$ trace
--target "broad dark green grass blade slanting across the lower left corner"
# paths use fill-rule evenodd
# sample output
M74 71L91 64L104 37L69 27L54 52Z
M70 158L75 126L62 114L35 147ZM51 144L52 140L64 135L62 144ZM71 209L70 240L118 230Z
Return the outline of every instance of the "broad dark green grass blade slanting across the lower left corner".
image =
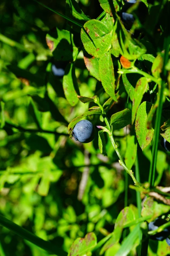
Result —
M35 236L30 231L20 227L19 225L8 220L7 218L5 218L2 215L0 215L0 225L6 227L7 229L11 230L15 234L21 236L23 239L30 241L31 243L35 244L38 247L41 247L42 249L44 249L46 251L54 253L55 255L58 255L58 256L66 256L67 255L67 253L64 252L62 249L57 248L52 243Z

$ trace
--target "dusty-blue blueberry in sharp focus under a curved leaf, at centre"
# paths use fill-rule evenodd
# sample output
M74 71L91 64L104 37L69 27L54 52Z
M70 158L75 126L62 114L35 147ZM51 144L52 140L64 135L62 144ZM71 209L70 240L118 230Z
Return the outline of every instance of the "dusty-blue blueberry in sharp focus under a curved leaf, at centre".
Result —
M73 129L73 136L75 140L78 140L82 143L91 142L94 139L94 135L95 127L88 120L79 121Z

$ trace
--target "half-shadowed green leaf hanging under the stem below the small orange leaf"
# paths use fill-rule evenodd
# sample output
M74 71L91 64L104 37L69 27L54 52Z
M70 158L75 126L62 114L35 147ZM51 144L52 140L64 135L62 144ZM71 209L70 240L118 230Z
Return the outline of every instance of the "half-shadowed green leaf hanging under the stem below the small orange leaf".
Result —
M139 74L122 74L122 81L131 101L133 101L136 83L140 78Z

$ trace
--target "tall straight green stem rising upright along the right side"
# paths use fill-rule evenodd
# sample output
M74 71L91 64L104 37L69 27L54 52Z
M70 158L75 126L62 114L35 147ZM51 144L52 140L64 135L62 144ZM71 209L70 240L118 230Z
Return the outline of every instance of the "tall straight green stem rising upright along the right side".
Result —
M152 146L152 160L151 160L150 170L149 170L149 184L151 187L154 186L154 181L155 181L160 123L161 123L161 114L162 114L162 107L163 107L163 90L164 90L164 86L165 86L165 82L166 82L166 75L167 75L167 70L165 69L165 65L168 61L169 44L170 44L170 35L168 34L164 38L164 47L163 48L165 49L165 53L164 53L164 58L163 58L163 79L162 79L162 83L161 83L159 105L156 110L155 131L154 131L153 146Z

